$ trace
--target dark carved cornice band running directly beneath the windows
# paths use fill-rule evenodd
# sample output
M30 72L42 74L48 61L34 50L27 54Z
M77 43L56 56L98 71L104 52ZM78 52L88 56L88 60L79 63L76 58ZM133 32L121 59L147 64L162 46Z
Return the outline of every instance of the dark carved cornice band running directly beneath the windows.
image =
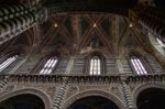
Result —
M74 75L0 75L1 80L8 78L10 83L63 83L63 78L68 78L70 84L109 84L109 83L138 83L138 81L165 81L164 74L151 75L110 75L110 76L74 76ZM7 79L6 79L7 80Z

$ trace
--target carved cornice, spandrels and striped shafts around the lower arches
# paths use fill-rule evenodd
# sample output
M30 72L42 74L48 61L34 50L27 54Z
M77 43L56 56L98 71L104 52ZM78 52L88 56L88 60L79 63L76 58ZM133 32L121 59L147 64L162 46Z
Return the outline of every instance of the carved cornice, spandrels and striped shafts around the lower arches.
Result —
M136 87L147 84L163 85L164 74L113 75L113 76L69 76L69 75L0 75L1 94L18 89L37 88L47 92L52 109L62 109L66 99L86 90L102 90L114 95L124 102L125 109L136 109L133 94Z

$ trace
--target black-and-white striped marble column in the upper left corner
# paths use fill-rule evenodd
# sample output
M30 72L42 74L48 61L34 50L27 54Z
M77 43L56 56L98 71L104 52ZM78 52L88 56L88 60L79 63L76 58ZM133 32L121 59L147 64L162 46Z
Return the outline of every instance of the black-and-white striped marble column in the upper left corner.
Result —
M0 8L0 44L32 28L37 20L35 8L4 4Z

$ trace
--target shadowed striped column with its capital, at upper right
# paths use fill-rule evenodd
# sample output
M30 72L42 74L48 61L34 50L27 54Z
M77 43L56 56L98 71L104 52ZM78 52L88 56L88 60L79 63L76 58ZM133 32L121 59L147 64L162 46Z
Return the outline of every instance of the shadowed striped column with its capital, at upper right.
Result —
M141 23L145 29L156 35L165 43L165 10L155 7L136 7L130 10L130 19L132 22Z

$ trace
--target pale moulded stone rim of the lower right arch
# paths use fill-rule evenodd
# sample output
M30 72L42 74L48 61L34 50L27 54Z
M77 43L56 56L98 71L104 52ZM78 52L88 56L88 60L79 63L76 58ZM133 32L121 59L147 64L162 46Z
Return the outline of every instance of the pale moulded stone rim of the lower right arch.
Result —
M161 84L143 84L143 85L140 85L139 87L136 87L134 89L134 91L132 92L132 97L133 97L133 103L136 106L136 99L138 99L138 96L140 95L141 91L147 89L147 88L161 88L161 89L165 89L165 86L164 85L161 85Z

